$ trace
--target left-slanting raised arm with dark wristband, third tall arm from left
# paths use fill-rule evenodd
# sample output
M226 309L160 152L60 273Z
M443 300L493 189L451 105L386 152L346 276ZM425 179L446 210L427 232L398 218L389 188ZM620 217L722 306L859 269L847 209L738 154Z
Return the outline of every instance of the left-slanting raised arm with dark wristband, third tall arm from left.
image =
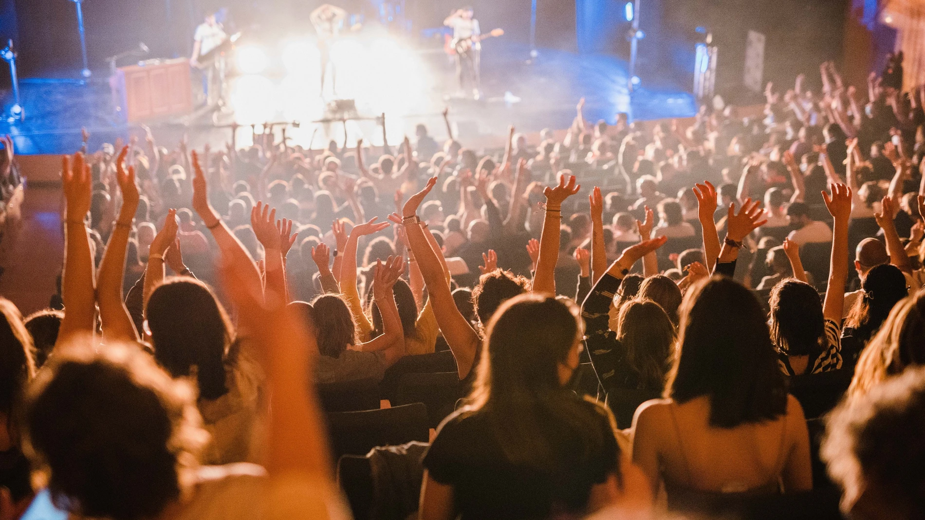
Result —
M222 221L221 216L209 203L205 174L203 173L203 168L199 165L199 157L196 155L196 151L192 151L192 168L194 172L192 177L192 209L203 220L206 229L215 238L218 249L222 254L222 261L234 266L234 269L239 272L241 280L254 288L261 287L260 272L257 271L257 266L254 265L250 253L247 252L247 249L244 248L238 238L231 233L228 225Z

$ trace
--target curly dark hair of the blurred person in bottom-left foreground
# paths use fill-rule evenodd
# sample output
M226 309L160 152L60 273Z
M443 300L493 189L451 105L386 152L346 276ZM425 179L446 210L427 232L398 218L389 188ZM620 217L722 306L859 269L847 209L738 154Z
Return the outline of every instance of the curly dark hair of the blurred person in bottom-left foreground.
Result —
M191 489L208 441L195 391L137 346L96 346L48 359L27 396L24 451L57 507L154 518Z

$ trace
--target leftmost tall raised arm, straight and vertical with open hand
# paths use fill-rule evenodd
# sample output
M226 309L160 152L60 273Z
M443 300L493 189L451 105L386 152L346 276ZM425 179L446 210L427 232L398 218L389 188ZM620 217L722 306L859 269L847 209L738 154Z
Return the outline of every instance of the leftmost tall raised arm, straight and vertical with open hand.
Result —
M84 218L90 211L90 166L77 152L73 160L67 155L61 163L61 180L67 209L65 211L65 257L61 279L64 320L58 331L56 348L82 334L93 334L93 256Z

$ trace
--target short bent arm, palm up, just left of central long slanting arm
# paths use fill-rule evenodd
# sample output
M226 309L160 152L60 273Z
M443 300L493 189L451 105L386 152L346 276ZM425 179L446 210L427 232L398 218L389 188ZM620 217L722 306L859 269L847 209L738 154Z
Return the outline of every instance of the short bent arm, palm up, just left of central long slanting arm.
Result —
M382 333L371 341L359 345L364 352L382 351L386 365L391 367L405 354L404 333L401 329L399 308L395 305L392 287L404 271L404 259L388 257L385 263L376 260L376 276L373 280L373 296L382 315Z

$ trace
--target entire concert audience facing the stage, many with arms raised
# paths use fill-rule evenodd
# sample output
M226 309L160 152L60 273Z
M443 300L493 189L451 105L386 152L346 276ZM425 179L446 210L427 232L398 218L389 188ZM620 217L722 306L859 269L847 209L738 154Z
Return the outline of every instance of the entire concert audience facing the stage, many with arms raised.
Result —
M59 293L0 299L0 513L922 518L899 60L497 150L66 157Z

